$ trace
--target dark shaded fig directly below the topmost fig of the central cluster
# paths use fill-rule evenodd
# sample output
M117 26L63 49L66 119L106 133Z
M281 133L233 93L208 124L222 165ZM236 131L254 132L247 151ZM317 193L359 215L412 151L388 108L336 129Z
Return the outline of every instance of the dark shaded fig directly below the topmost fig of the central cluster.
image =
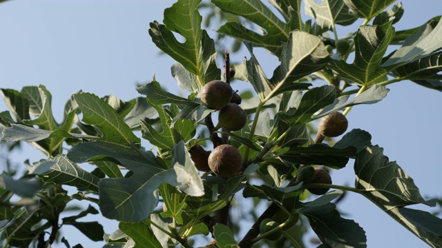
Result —
M236 103L229 103L218 115L218 125L229 131L238 131L247 123L247 114Z

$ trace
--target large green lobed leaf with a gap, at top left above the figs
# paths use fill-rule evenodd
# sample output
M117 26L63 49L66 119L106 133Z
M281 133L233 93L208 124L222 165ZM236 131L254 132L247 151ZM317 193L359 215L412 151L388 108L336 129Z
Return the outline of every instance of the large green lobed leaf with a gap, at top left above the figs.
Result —
M186 70L198 76L200 85L191 87L198 92L204 83L220 79L216 67L216 50L213 40L201 29L202 17L198 12L200 0L179 0L164 10L164 24L150 24L149 34L153 43ZM177 41L173 32L182 35L185 41Z

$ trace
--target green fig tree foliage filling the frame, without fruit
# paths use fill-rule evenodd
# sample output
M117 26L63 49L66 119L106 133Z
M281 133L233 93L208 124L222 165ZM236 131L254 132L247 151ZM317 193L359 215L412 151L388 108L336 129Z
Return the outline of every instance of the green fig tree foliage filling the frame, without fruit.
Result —
M366 247L363 227L340 216L332 203L349 191L365 196L431 247L442 247L442 220L407 207L435 202L422 198L412 178L372 144L368 132L350 130L327 145L314 140L316 134L308 128L327 114L347 114L354 105L381 101L390 83L410 80L442 90L439 18L396 32L394 23L401 19L403 6L390 8L394 1L306 0L305 13L312 17L308 20L301 17L300 0L269 2L278 13L262 1L211 1L223 17L234 17L220 27L219 39L242 41L250 53L243 63L232 65L233 78L231 54L224 54L223 70L216 64L218 42L202 28L200 0L178 0L164 10L164 24L151 22L148 33L175 59L171 72L177 85L189 92L186 97L162 90L155 79L137 87L144 96L127 102L78 92L66 102L64 119L57 123L44 85L0 89L9 107L0 112L2 141L28 142L47 156L26 167L22 176L11 170L0 177L3 245L37 242L48 247L64 225L73 225L91 240L125 247L191 247L191 237L208 235L218 247L250 247L270 242L266 237L281 230L283 238L275 241L279 247L285 240L304 247L307 220L322 247ZM339 38L340 25L361 19L358 30ZM334 52L339 39L346 39L351 49ZM401 48L386 54L396 44ZM278 58L271 77L262 71L254 48L265 48ZM351 54L353 63L348 62ZM247 81L255 91L256 96L242 99L248 114L242 130L219 130L212 118L217 113L200 101L205 83L220 79ZM141 131L141 137L135 131ZM141 138L155 149L142 147ZM242 156L240 173L224 178L198 172L188 152L196 143L206 149L227 143L236 147ZM67 152L64 145L70 147ZM338 170L350 159L354 187L296 180L305 165ZM65 185L78 192L68 194ZM313 187L333 190L309 197L305 189ZM244 237L236 235L238 225L229 216L235 194L269 203ZM60 219L66 204L76 200L90 206ZM104 234L99 223L78 220L99 213L118 220L119 229ZM280 225L260 234L261 221L269 218Z

